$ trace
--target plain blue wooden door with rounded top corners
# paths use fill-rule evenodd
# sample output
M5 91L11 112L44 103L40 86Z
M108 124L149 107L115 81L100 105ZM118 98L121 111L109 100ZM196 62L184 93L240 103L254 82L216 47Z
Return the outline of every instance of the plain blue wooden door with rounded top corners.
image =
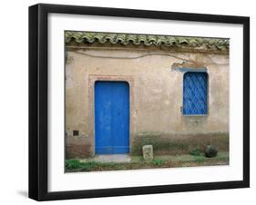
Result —
M129 152L129 87L125 82L95 84L96 154Z

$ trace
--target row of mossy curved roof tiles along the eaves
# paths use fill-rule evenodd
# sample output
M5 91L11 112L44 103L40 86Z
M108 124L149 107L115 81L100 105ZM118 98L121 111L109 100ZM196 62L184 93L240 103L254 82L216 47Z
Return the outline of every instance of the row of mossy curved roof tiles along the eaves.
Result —
M169 46L169 47L189 47L205 48L210 50L229 50L230 40L227 38L204 38L186 37L152 34L112 34L112 33L92 33L92 32L72 32L65 33L66 43L77 44L144 44L146 46Z

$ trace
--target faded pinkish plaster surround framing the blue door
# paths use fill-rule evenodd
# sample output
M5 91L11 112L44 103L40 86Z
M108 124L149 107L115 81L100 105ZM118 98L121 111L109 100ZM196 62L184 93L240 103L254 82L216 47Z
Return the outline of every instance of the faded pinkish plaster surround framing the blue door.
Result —
M100 75L100 74L89 74L88 75L88 107L87 107L87 119L88 119L88 134L92 136L92 153L95 155L95 83L97 81L106 82L126 82L129 88L129 152L131 151L131 142L133 133L135 133L136 117L134 117L134 77L124 75Z

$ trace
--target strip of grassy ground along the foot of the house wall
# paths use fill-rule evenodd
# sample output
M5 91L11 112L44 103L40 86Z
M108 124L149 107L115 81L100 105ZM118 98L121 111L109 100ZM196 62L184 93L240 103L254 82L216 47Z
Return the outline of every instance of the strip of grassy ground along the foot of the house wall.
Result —
M66 171L118 171L118 170L138 170L150 168L168 167L189 167L207 166L217 164L228 164L229 153L219 152L214 158L206 158L203 155L195 156L190 154L183 155L160 155L154 156L152 161L144 161L141 156L132 156L130 162L98 162L98 161L65 161Z

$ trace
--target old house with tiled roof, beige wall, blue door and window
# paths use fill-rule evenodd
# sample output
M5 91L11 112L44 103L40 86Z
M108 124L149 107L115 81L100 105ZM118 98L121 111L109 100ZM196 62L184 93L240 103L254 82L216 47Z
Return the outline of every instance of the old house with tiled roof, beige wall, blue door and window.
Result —
M229 39L66 32L67 158L229 149Z

